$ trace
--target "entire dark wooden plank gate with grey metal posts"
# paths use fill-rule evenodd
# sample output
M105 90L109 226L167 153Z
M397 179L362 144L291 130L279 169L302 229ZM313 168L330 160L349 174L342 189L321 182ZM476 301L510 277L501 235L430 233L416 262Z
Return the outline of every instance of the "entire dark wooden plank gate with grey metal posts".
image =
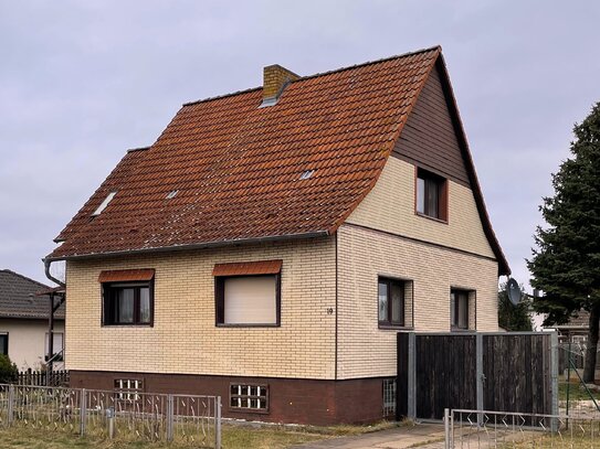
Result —
M442 419L444 408L554 414L557 343L549 332L399 333L397 415Z

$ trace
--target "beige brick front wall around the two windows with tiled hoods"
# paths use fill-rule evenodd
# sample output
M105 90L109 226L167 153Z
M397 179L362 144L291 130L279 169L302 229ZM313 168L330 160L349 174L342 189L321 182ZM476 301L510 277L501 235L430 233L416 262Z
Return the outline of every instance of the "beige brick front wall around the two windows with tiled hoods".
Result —
M214 264L283 259L281 328L217 328ZM67 263L70 370L333 378L335 237ZM106 269L155 268L155 325L101 327Z

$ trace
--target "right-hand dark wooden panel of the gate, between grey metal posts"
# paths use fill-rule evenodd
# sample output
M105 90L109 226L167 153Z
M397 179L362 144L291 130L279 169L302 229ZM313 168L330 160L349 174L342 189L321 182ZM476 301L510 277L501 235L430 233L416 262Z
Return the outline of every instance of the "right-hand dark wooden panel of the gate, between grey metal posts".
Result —
M547 334L483 335L483 408L550 415Z

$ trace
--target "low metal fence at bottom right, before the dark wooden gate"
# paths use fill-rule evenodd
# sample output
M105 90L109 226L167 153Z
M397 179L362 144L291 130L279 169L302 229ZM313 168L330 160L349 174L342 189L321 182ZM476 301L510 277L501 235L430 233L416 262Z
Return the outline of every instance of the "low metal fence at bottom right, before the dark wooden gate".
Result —
M448 410L446 449L599 448L600 418Z

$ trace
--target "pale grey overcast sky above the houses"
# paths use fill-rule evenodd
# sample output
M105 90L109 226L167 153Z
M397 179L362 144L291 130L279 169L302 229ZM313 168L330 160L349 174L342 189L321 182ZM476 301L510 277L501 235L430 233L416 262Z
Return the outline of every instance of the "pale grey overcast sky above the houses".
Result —
M0 0L0 268L46 281L52 239L182 103L443 47L514 277L571 129L600 100L598 1Z

